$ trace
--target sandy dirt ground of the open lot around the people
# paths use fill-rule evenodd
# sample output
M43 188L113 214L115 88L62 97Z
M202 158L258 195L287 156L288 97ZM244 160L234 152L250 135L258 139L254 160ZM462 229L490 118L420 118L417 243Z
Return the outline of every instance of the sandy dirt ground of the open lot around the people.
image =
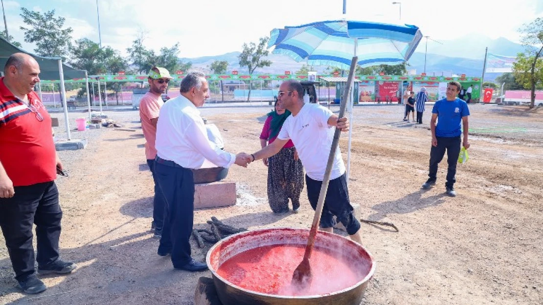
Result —
M260 147L268 110L202 113L222 131L226 150L250 153ZM361 205L364 218L400 230L362 224L364 246L377 263L363 303L543 303L543 109L470 106L470 160L458 165L456 198L444 193L445 161L437 186L420 189L430 153L429 110L425 124L415 126L401 121L401 107L355 107L351 201ZM45 278L45 293L21 294L2 239L0 303L193 304L198 277L211 276L176 271L168 257L156 255L158 241L149 232L152 178L138 113L111 111L111 118L135 132L102 129L87 149L60 152L70 171L58 179L61 254L79 268ZM340 142L344 158L347 138ZM266 177L261 161L232 167L226 180L237 183L238 204L195 211L194 226L216 216L249 229L309 228L313 210L305 190L299 214L275 216ZM193 257L204 259L208 249L193 244Z

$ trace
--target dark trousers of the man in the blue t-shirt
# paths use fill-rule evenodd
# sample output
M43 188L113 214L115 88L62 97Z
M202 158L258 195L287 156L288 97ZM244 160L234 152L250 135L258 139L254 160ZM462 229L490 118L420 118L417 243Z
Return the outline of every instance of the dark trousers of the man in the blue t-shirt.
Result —
M443 138L437 137L438 146L432 146L430 150L430 173L428 173L427 182L435 182L437 180L438 164L443 160L445 150L447 151L447 182L445 187L453 187L456 179L456 165L458 163L458 155L460 154L460 137Z

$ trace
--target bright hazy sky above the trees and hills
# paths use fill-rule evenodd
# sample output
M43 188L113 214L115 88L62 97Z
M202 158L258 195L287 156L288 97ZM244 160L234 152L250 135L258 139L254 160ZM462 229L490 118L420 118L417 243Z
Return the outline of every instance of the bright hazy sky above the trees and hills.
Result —
M21 8L54 9L66 18L75 39L98 42L96 0L3 0L8 31L23 48ZM469 34L519 41L517 29L543 17L543 0L347 0L347 18L418 26L423 35L450 40ZM158 51L180 43L181 57L241 51L270 30L341 17L343 0L98 0L102 44L126 55L138 32ZM4 29L0 26L0 29Z

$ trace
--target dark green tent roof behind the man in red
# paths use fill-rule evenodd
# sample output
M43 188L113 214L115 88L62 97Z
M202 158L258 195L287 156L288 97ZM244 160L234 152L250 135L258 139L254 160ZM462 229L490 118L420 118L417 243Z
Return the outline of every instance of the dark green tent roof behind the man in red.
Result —
M37 61L40 65L40 79L41 80L60 80L59 74L59 62L60 57L43 57L34 55L28 51L15 47L9 43L4 37L0 36L0 69L4 70L5 62L8 61L8 57L14 53L26 53ZM64 72L64 80L83 79L85 78L84 70L77 70L66 64L62 64L62 71Z

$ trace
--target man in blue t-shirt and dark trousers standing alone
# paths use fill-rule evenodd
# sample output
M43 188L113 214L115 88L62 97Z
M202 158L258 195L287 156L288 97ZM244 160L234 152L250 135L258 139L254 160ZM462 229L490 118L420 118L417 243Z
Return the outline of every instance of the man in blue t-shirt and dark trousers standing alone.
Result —
M466 150L470 147L468 142L468 116L470 111L465 101L456 96L460 91L460 83L452 81L447 84L447 98L435 102L432 109L432 120L430 128L432 130L432 148L430 150L430 173L428 180L422 185L422 189L430 189L435 185L437 179L438 164L447 151L447 182L445 189L447 195L454 197L454 183L456 179L456 164L460 154L460 136L464 134L462 145ZM435 124L437 120L437 125ZM463 131L460 127L463 125Z

